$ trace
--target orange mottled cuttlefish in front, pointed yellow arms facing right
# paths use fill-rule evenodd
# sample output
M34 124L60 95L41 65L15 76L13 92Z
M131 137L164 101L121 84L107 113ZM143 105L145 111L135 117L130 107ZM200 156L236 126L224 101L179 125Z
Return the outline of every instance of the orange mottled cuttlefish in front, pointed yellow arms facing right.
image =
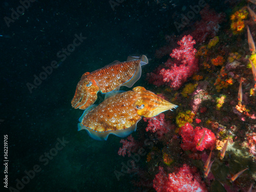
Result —
M91 105L79 118L78 131L86 130L96 140L106 140L110 134L127 137L136 131L142 117L154 117L177 108L143 87L106 98L99 105Z

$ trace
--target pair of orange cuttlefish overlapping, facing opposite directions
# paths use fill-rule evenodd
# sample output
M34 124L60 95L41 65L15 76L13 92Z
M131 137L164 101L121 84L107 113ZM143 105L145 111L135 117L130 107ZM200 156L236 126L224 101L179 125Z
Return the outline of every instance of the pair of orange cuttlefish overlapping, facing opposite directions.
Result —
M71 101L73 108L84 110L78 131L86 130L96 140L106 140L110 134L126 137L136 131L142 117L154 117L177 108L143 87L119 91L121 86L131 88L141 76L141 66L147 63L145 55L128 57L127 61L114 61L92 73L84 73ZM98 92L105 94L105 100L95 105Z

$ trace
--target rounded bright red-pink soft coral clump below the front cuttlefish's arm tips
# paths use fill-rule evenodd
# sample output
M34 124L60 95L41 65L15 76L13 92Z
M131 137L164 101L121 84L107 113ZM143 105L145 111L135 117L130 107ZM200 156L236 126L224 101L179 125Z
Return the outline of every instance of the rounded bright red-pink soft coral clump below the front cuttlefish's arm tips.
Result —
M199 146L199 140L202 138L205 131L205 136L203 141ZM216 137L214 133L206 128L200 128L197 126L195 129L189 123L186 123L184 126L180 127L179 134L182 137L181 148L185 151L191 150L193 152L203 151L205 148L211 148L216 143Z

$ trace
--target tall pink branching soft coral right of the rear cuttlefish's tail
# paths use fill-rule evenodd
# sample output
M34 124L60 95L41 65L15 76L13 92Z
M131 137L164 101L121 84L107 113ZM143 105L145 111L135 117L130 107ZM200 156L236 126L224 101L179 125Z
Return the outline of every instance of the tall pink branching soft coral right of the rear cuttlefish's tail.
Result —
M159 67L155 73L148 74L148 81L156 86L167 84L178 90L198 70L198 60L195 57L197 50L194 48L196 41L193 37L185 35L178 44L180 47L170 54L175 62L168 59L164 64L165 68Z

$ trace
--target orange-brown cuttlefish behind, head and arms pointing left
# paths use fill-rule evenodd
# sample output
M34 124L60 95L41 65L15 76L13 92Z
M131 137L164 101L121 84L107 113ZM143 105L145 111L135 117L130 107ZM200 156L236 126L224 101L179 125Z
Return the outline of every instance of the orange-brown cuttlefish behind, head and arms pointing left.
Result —
M148 63L147 57L128 57L127 61L111 64L82 75L71 101L73 108L84 110L97 100L97 93L118 91L121 86L131 88L141 76L141 66Z

